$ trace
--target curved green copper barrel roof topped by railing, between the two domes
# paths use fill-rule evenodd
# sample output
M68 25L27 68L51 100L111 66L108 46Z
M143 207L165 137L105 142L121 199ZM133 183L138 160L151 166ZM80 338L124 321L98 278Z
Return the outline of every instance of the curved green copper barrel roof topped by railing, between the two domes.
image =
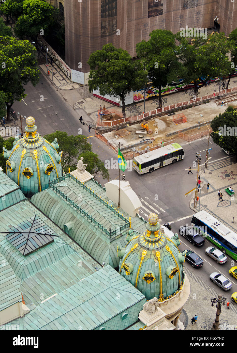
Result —
M109 199L106 197L106 191L93 179L89 180L84 188L75 180L69 178L68 174L60 179L61 181L58 181L55 187L63 194L60 195L57 190L50 187L34 195L31 202L63 230L65 229L64 225L71 222L70 237L97 262L102 264L105 261L106 265L110 264L113 268L116 268L119 264L117 244L121 247L125 246L125 238L129 232L127 226L123 231L120 231L120 226L126 225L125 221L115 214L114 208L107 207L105 203ZM87 189L85 189L85 186L87 186ZM90 189L92 193L94 190L95 195L97 193L98 196L101 196L101 199L96 199L89 192ZM75 205L70 204L70 200ZM100 202L101 200L102 202ZM105 200L104 203L103 200ZM77 206L91 215L92 218L84 216L83 211L80 212L76 208ZM127 217L127 220L129 220L129 215L123 209L117 208L117 210L120 216L123 214L123 218ZM95 225L94 219L101 226ZM111 231L115 233L111 239L105 229L102 229L102 226L107 230L111 228ZM146 223L138 216L131 217L131 226L137 232L143 232L146 229Z

